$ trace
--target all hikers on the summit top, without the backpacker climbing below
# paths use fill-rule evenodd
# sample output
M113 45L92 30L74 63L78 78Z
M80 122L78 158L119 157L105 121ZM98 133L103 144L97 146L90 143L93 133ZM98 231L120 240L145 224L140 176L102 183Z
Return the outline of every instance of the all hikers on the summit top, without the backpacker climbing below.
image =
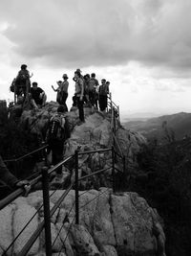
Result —
M31 85L30 72L27 69L27 65L21 65L21 69L18 72L16 78L12 81L13 90L17 99L17 102L28 102L33 108L38 108L45 105L47 100L47 95L45 91L38 87L36 81L32 82ZM64 74L62 76L63 81L56 81L57 87L54 88L52 85L53 91L56 94L56 102L59 105L64 105L66 111L68 111L68 106L66 101L68 99L68 89L69 81L68 75ZM101 80L101 83L96 79L96 74L92 73L82 75L82 72L79 68L74 71L74 96L73 96L73 106L76 106L79 110L79 119L81 122L84 122L84 104L92 106L95 109L98 109L102 112L105 112L107 108L107 98L109 94L109 85L110 81L105 79Z

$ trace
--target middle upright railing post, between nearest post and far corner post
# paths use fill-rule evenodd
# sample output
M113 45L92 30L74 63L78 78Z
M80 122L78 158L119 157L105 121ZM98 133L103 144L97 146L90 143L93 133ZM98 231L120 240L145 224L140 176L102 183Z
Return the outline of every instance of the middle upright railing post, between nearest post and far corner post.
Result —
M75 224L79 223L79 189L78 189L78 151L74 151L74 195L75 195Z

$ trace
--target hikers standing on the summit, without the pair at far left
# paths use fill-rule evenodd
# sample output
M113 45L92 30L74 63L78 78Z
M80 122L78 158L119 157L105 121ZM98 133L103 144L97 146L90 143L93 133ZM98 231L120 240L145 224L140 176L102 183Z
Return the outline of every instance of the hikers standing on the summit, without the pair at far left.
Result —
M100 111L105 112L107 108L107 97L109 94L109 85L110 81L106 81L105 79L101 80L101 84L99 85L96 80L96 74L92 73L82 75L81 70L77 68L74 71L74 96L73 96L73 106L77 106L79 110L79 119L81 122L84 122L84 110L83 105L86 104L88 106L92 106L95 109L99 109ZM66 109L68 109L66 105L66 100L68 98L68 76L67 74L63 75L64 81L57 81L58 87L54 91L57 91L56 101L60 105L65 105Z

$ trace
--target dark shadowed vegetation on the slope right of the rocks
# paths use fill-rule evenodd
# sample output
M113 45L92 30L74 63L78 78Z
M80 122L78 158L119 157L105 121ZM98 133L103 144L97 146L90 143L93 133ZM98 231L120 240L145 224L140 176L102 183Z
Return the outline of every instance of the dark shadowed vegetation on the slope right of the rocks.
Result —
M167 137L166 137L167 138ZM136 191L157 208L164 221L166 254L187 256L191 251L191 138L150 141L138 153L138 170L130 175Z

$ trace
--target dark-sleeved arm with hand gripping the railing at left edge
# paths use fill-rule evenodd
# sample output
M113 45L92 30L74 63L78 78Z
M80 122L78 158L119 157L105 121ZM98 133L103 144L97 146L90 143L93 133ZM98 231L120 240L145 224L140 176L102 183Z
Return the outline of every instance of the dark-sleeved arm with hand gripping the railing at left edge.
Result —
M17 177L11 174L5 165L0 155L0 179L3 183L11 187L11 189L24 188L25 192L28 193L31 189L30 182L28 180L19 180Z

